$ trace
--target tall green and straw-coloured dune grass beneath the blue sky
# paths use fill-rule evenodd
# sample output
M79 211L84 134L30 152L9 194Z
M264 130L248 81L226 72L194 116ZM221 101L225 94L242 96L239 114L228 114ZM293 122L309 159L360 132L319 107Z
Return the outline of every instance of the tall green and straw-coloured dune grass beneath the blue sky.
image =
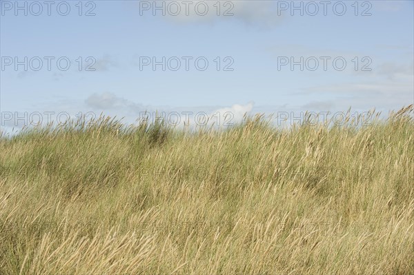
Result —
M412 275L412 113L0 135L0 274Z

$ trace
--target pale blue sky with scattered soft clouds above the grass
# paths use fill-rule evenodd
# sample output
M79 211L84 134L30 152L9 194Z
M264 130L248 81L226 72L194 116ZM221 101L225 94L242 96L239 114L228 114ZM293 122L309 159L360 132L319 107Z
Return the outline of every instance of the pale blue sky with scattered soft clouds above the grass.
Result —
M5 132L81 114L233 123L414 101L412 0L0 0L0 12Z

